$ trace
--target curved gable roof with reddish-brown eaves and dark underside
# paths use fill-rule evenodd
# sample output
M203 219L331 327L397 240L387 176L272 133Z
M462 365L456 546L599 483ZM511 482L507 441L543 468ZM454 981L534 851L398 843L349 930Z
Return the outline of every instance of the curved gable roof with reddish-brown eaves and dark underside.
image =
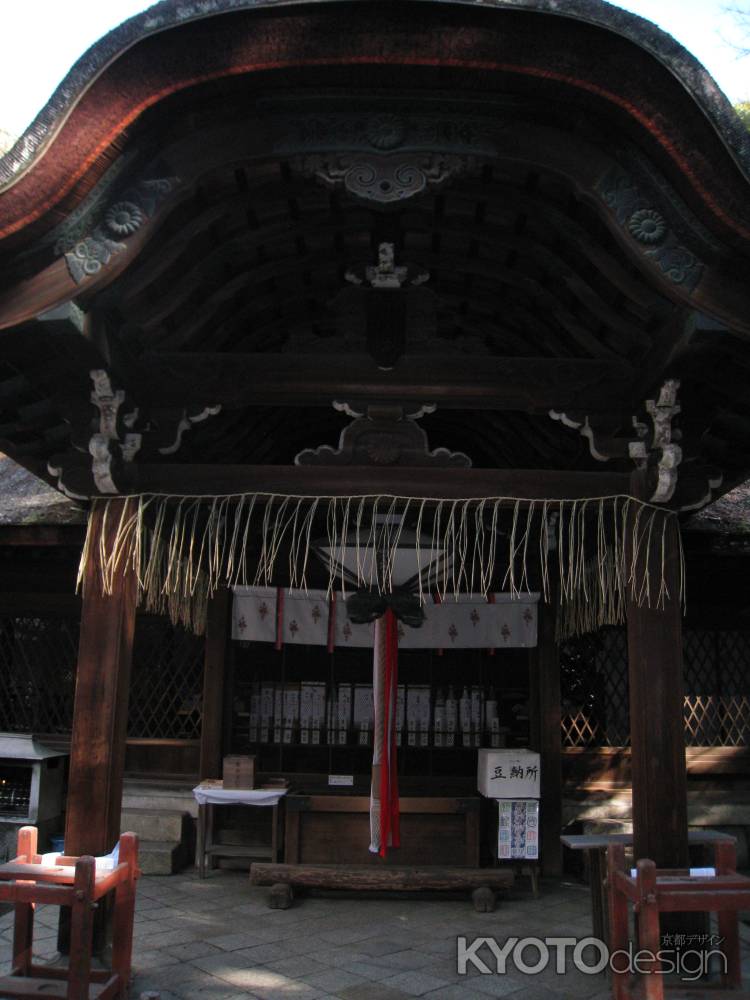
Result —
M672 377L685 468L736 482L749 165L695 60L598 0L165 0L0 162L0 438L90 462L106 369L159 462L181 419L183 463L285 464L335 446L334 399L387 399L477 467L626 470ZM429 274L392 374L351 278L384 243ZM80 329L35 320L66 303Z

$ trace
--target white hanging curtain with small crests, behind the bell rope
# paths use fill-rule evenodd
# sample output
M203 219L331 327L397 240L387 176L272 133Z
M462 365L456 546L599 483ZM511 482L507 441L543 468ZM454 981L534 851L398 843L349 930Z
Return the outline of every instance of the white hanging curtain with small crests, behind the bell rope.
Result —
M401 649L504 649L536 646L539 594L462 594L424 605L421 628L399 622ZM336 594L331 612L325 591L279 591L274 587L235 587L232 638L245 642L301 643L325 646L333 613L334 644L371 649L374 625L355 625L346 602Z

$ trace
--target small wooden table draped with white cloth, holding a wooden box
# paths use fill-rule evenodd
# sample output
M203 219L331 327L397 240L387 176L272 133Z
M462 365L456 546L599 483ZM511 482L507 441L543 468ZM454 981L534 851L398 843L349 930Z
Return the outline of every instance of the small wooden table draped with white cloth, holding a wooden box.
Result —
M198 785L193 796L198 803L198 875L206 877L206 858L268 858L279 860L279 847L283 841L280 829L283 810L279 803L286 795L286 788L223 788L216 784ZM214 840L214 808L216 806L260 806L271 809L271 844L222 844Z

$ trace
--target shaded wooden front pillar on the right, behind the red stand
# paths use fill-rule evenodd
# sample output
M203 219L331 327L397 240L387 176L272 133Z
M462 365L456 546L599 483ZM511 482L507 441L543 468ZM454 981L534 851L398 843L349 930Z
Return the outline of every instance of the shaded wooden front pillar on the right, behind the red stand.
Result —
M634 473L631 491L636 498L644 497L640 473ZM660 546L661 530L654 536ZM654 560L657 570L660 561ZM679 536L674 523L666 534L665 573L670 597L663 610L628 601L633 849L636 858L650 858L658 868L683 868L688 864L687 778Z

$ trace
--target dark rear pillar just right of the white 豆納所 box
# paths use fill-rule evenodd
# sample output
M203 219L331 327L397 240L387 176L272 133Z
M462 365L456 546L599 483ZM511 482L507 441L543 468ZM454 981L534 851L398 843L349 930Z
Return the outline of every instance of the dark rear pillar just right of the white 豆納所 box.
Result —
M538 605L537 644L530 650L529 720L538 749L540 780L540 858L545 875L562 874L562 737L560 733L560 651L555 639L556 595Z

